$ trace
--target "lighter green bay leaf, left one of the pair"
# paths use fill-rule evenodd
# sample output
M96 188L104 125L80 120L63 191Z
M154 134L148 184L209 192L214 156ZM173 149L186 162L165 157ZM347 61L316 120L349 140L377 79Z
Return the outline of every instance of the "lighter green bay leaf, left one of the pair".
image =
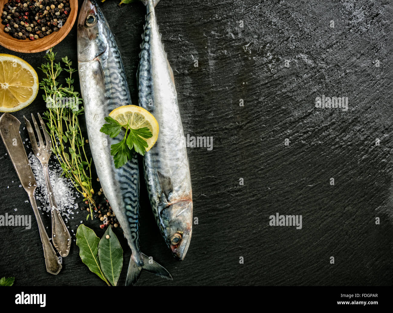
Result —
M97 274L99 278L109 285L101 270L98 258L98 243L99 238L95 235L93 230L83 224L79 225L76 232L76 245L79 247L79 256L89 270Z

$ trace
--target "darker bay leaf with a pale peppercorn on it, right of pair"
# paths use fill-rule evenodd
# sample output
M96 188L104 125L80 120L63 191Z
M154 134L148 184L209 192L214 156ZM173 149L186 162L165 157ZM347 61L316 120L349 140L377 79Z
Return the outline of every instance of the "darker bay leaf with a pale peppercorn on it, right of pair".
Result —
M109 238L107 239L107 235ZM116 286L119 280L121 268L123 267L123 249L118 238L108 227L98 244L98 257L101 268L109 282Z

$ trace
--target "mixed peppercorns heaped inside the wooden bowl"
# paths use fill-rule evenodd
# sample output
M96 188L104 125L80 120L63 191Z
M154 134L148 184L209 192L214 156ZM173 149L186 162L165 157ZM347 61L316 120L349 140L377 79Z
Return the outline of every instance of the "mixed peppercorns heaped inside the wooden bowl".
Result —
M9 0L1 18L12 37L35 40L59 31L70 11L69 0Z

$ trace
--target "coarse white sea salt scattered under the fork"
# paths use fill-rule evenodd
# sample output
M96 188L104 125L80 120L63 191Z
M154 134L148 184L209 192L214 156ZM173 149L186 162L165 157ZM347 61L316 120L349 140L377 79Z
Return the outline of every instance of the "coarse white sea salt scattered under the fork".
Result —
M42 165L37 157L32 153L29 154L29 161L37 182L35 198L42 204L42 206L39 206L38 208L48 213L51 209ZM77 192L73 188L72 182L68 178L61 176L62 168L57 161L50 162L48 169L57 208L61 215L65 217L64 222L68 222L70 218L73 219L71 215L73 215L78 209Z

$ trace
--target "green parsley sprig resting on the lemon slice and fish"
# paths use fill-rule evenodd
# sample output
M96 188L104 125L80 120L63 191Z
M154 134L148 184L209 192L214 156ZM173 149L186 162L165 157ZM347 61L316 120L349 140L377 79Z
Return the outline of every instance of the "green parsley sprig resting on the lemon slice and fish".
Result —
M104 124L100 131L115 138L119 135L121 128L125 128L124 138L116 144L110 146L110 155L113 156L115 167L118 169L131 160L135 152L145 155L146 148L149 146L146 139L153 136L152 132L147 127L132 129L127 125L121 125L112 117L105 117L107 124Z

